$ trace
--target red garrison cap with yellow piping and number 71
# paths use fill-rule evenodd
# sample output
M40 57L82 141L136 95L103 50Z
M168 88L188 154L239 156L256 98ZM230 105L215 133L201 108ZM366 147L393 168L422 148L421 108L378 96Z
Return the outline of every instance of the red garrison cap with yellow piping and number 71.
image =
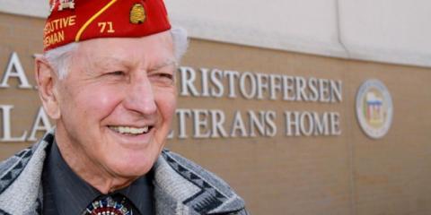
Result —
M95 38L137 38L170 30L163 0L49 0L44 51Z

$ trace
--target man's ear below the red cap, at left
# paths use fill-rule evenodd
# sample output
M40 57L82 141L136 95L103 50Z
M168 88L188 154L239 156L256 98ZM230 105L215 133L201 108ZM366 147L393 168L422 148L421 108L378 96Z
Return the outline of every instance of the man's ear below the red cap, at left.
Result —
M58 119L60 117L60 108L56 89L57 73L42 56L37 56L35 59L35 80L38 84L39 97L43 108L52 119Z

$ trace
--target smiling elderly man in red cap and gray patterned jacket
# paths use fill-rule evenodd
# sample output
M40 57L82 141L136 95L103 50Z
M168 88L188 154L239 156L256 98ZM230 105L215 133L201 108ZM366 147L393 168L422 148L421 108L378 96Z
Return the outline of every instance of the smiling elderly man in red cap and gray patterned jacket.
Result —
M57 126L1 164L1 214L247 214L163 150L187 36L162 0L51 0L44 46L36 80Z

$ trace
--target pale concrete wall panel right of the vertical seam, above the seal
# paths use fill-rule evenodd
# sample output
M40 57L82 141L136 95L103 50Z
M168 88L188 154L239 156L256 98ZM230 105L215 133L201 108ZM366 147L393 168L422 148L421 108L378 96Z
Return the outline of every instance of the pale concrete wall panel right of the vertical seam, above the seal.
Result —
M430 11L427 0L339 1L340 39L351 58L430 66Z

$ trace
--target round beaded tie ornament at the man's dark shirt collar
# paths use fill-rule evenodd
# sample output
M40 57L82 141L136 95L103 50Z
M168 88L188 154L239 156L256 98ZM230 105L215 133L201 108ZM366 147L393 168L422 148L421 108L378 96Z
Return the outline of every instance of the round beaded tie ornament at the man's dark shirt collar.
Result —
M82 215L138 215L128 198L120 193L104 194L94 199Z

